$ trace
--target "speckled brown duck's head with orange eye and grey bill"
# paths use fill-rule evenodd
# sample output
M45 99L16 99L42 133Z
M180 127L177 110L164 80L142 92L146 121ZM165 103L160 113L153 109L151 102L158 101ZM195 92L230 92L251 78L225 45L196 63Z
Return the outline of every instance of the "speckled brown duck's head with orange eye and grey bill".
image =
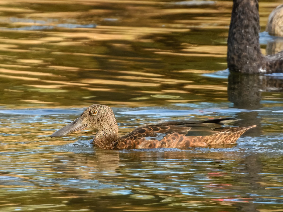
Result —
M83 111L79 118L52 133L51 138L63 137L86 128L95 129L96 137L99 137L99 132L102 132L104 137L109 134L110 137L118 137L118 126L112 109L106 105L95 104Z

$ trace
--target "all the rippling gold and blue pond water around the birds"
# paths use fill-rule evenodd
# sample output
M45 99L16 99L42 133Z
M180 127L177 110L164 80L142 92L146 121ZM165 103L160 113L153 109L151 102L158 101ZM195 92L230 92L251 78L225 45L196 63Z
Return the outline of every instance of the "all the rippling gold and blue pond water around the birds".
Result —
M260 2L264 31L281 1ZM232 1L2 0L0 211L283 211L282 75L229 74ZM261 33L263 53L283 39ZM223 148L100 150L50 138L91 104L120 134L257 125Z

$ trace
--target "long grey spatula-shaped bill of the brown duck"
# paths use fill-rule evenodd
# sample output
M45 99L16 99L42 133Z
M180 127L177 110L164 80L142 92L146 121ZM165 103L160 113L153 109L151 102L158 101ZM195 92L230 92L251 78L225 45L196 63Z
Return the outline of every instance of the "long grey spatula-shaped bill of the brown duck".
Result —
M71 122L70 124L58 129L56 132L52 133L51 138L53 137L63 137L73 132L78 132L87 128L87 124L83 123L82 116Z

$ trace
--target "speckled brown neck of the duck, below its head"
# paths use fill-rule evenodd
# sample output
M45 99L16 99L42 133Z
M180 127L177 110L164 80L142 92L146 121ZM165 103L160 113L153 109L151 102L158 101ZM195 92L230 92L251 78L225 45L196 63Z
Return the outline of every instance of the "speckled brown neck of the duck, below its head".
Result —
M93 142L100 149L114 149L115 141L118 139L118 125L115 120L115 123L109 123L102 126L100 129L97 129L96 136Z

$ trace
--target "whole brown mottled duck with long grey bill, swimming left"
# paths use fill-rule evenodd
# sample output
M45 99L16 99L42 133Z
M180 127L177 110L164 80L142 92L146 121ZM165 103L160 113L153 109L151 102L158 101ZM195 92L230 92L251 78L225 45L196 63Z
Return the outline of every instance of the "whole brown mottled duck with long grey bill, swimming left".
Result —
M196 122L158 122L137 127L118 136L118 125L112 109L106 105L91 105L79 118L58 129L51 137L62 137L86 128L96 130L93 143L101 149L185 148L233 144L249 127L221 127L236 121L221 118Z

